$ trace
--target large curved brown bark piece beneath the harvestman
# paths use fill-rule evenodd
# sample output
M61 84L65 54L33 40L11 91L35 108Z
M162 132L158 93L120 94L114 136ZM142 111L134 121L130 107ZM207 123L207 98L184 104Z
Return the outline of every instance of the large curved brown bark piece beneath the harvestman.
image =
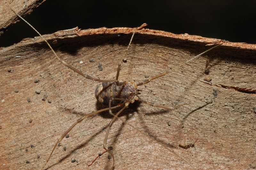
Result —
M67 63L93 77L112 79L132 31L74 28L45 37ZM205 45L219 42L142 29L135 34L125 56L127 62L122 65L120 79L147 79L211 47ZM94 97L99 82L84 79L60 64L40 37L2 48L0 56L0 169L41 168L58 138L77 119L102 108ZM120 120L113 124L107 146L114 148L115 168L255 167L255 56L256 45L226 42L172 73L139 86L144 100L170 106L191 104L174 111L138 102L131 104L121 118L145 133ZM208 74L204 73L206 59L210 60ZM45 94L48 97L42 101ZM206 100L212 103L206 104ZM88 168L104 151L105 128L110 120L108 112L104 112L79 123L57 146L46 167ZM194 148L178 146L180 141L195 141L197 137ZM107 157L104 154L89 169L110 169L113 159ZM71 163L71 159L78 163Z

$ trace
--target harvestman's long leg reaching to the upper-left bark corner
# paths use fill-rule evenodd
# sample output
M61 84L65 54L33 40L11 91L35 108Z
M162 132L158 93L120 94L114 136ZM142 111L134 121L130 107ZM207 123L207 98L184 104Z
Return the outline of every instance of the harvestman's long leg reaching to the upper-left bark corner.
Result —
M11 10L12 10L12 9L11 9ZM12 12L14 12L18 17L20 17L20 19L22 19L23 21L25 21L31 28L33 28L33 29L36 31L36 33L37 33L38 35L40 35L40 36L44 39L45 43L47 43L47 45L50 47L50 49L52 50L52 52L53 52L53 54L56 56L56 58L57 58L62 64L64 64L65 66L67 66L68 68L74 70L76 73L82 75L82 76L85 77L86 79L90 79L90 80L94 80L94 81L100 81L100 82L112 82L112 81L116 81L116 79L102 80L102 79L93 78L93 77L91 77L91 76L89 76L89 75L87 75L87 74L84 74L84 73L80 72L80 71L79 71L78 69L76 69L75 67L73 67L73 66L71 66L70 64L66 63L63 59L61 59L61 58L55 53L55 51L52 49L52 46L45 40L45 38L44 38L32 25L30 25L25 19L23 19L23 18L22 18L20 15L18 15L15 11L12 10Z

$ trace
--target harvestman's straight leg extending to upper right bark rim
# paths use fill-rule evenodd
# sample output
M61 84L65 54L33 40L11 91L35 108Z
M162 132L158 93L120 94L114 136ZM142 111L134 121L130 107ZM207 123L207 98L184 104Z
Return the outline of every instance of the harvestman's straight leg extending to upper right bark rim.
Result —
M182 63L182 64L180 64L180 65L174 67L174 68L172 69L172 72L173 72L174 70L176 70L177 68L179 68L180 66L182 66L182 65L184 65L184 64L186 64L186 63L188 63L188 62L190 62L191 60L193 60L193 59L195 59L195 58L197 58L197 57L203 55L204 53L206 53L206 52L208 52L208 51L210 51L210 50L212 50L212 49L214 49L214 48L216 48L216 47L218 47L218 46L220 46L220 45L222 45L224 42L225 42L225 41L219 43L218 45L215 45L214 47L212 47L212 48L210 48L210 49L208 49L208 50L206 50L206 51L204 51L204 52L202 52L201 54L198 54L197 56L195 56L195 57L189 59L189 60L186 61L185 63ZM137 83L137 86L140 86L140 85L143 85L143 84L147 84L147 83L149 83L151 80L154 80L154 79L157 79L157 78L159 78L159 77L162 77L162 76L164 76L165 74L168 74L168 73L171 73L171 71L167 71L167 72L158 74L158 75L156 75L155 77L152 77L152 78L150 78L150 79L148 79L148 80L146 80L146 81L139 82L139 83Z

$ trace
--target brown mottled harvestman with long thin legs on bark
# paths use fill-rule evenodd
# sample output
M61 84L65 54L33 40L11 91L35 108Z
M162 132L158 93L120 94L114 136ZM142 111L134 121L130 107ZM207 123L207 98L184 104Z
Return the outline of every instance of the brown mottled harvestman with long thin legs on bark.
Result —
M13 10L12 10L13 11ZM14 12L14 11L13 11ZM18 17L20 17L22 20L24 20L30 27L32 27L25 19L23 19L20 15L18 15L16 12L14 12ZM137 28L134 28L134 32L132 34L132 38L135 34L135 32L137 30L140 30L140 29L143 29L143 27L147 26L147 24L142 24L140 27L137 27ZM103 112L103 111L109 111L109 114L111 114L113 116L113 118L111 119L109 125L108 125L108 129L107 129L107 132L106 132L106 135L105 135L105 139L104 139L104 143L103 143L103 148L105 149L105 152L108 152L111 157L113 158L113 168L115 166L115 158L113 156L113 154L110 152L110 150L112 148L106 148L106 144L107 144L107 139L108 139L108 134L109 134L109 131L110 131L110 128L111 126L113 125L114 121L116 119L120 119L118 117L118 115L128 107L128 105L130 103L134 103L135 100L138 100L142 103L145 103L145 104L149 104L151 106L155 106L155 107L159 107L159 108L164 108L164 109L167 109L167 110L174 110L182 105L186 105L186 104L180 104L180 105L177 105L175 107L169 107L169 106L165 106L165 105L159 105L159 104L154 104L154 103L151 103L151 102L147 102L145 100L142 100L141 98L139 98L137 95L140 94L141 90L140 89L137 89L138 86L141 86L143 84L147 84L149 83L150 81L154 80L154 79L157 79L159 77L162 77L168 73L171 73L170 71L166 71L164 73L161 73L161 74L158 74L156 75L155 77L152 77L150 79L147 79L145 81L141 81L141 82L133 82L133 81L129 81L129 80L124 80L124 81L120 81L118 79L119 77L119 72L121 70L121 66L122 66L122 62L123 62L123 58L124 56L126 55L128 49L129 49L129 46L131 45L131 42L132 42L132 38L129 42L129 45L123 55L123 57L121 58L119 64L118 64L118 67L117 67L117 72L116 72L116 79L110 79L110 80L102 80L102 79L97 79L97 78L93 78L87 74L84 74L82 72L80 72L78 69L74 68L73 66L71 66L70 64L66 63L64 60L62 60L61 58L58 57L58 55L55 53L55 51L52 49L51 45L45 40L45 38L34 28L32 27L38 35L40 35L44 41L47 43L47 45L50 47L50 49L52 50L53 54L56 56L56 58L62 63L64 64L65 66L67 66L68 68L74 70L76 73L82 75L83 77L87 78L87 79L90 79L90 80L93 80L93 81L99 81L99 82L102 82L100 85L98 85L98 87L96 88L95 90L95 97L97 98L97 100L99 102L101 102L102 104L105 104L105 105L108 105L107 108L105 109L101 109L101 110L98 110L98 111L95 111L95 112L92 112L90 114L87 114L85 116L83 116L82 118L78 119L70 128L68 128L68 130L59 138L59 140L55 143L53 149L52 149L52 152L50 154L50 156L48 157L46 163L44 164L43 168L46 166L46 164L48 163L49 159L51 158L52 156L52 153L53 151L55 150L56 146L58 143L60 143L60 141L68 134L68 132L70 132L70 130L72 128L74 128L76 126L77 123L80 123L81 121L83 121L85 118L88 118L90 116L93 116L97 113L100 113L100 112ZM190 62L191 60L201 56L202 54L206 53L207 51L210 51L212 50L213 48L215 47L218 47L220 46L221 44L223 44L223 42L219 43L218 45L215 45L214 47L202 52L201 54L198 54L197 56L189 59L188 61L186 61L185 63L182 63L176 67L174 67L172 69L172 71L174 71L175 69L179 68L181 65L184 65L188 62ZM188 103L189 104L189 103ZM113 106L114 105L114 106ZM119 107L122 107L122 109L120 111L118 111L116 114L113 114L112 113L112 109L116 109L116 108L119 108ZM141 130L139 130L138 128L135 128L134 126L130 125L129 123L127 123L125 120L122 120L120 119L123 123L126 123L128 124L129 126L131 126L132 128L136 129L137 131L141 132ZM161 146L163 146L164 148L166 148L167 150L171 151L168 147L164 146L163 144L159 143L158 141L154 140L156 143L160 144ZM104 152L104 153L105 153ZM176 156L178 156L175 152L171 151L172 153L174 153ZM101 154L102 155L102 154ZM180 158L180 156L178 156ZM97 157L98 158L98 157ZM183 160L183 158L181 158ZM96 158L95 158L96 160ZM94 160L94 161L95 161ZM93 161L93 162L94 162Z

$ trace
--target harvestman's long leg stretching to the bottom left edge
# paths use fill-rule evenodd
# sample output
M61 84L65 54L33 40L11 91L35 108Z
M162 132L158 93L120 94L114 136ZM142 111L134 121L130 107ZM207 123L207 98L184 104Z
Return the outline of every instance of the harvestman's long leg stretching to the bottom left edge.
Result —
M115 108L120 107L120 106L122 106L122 105L124 105L124 104L119 104L119 105L113 106L113 107L111 107L111 109L115 109ZM55 145L54 145L54 147L53 147L53 149L52 149L52 152L51 152L50 156L48 157L48 159L47 159L46 163L44 164L44 166L46 166L46 164L48 163L49 159L51 158L52 153L53 153L54 149L56 148L57 144L60 143L60 141L68 134L68 132L70 132L71 129L73 129L73 128L76 126L77 123L80 123L80 122L83 121L85 118L88 118L88 117L90 117L90 116L93 116L93 115L95 115L95 114L97 114L97 113L100 113L100 112L103 112L103 111L106 111L106 110L109 110L109 108L105 108L105 109L98 110L98 111L96 111L96 112L92 112L92 113L87 114L87 115L83 116L82 118L76 120L76 122L75 122L71 127L69 127L68 130L66 130L66 132L65 132L65 133L58 139L58 141L55 143ZM44 166L43 166L42 169L44 169Z

